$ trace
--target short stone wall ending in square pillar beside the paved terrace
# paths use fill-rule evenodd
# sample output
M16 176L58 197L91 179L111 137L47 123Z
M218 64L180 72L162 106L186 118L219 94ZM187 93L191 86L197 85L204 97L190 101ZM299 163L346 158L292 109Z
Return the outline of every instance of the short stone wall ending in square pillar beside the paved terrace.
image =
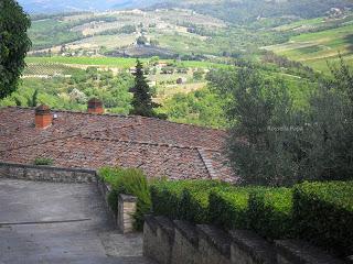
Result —
M108 204L108 195L111 191L111 187L99 179L99 177L97 177L97 185L116 227L122 233L133 232L132 215L136 212L137 198L135 196L120 194L118 197L118 208L113 210Z

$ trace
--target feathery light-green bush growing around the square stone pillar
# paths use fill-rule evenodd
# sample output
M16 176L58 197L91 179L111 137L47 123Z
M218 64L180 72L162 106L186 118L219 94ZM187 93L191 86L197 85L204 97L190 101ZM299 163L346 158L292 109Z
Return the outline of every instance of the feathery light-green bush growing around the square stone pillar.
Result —
M143 218L151 209L151 197L149 183L142 173L137 168L104 167L99 169L99 177L113 187L113 193L108 197L109 206L117 210L117 199L119 194L132 195L138 198L137 211L133 215L133 228L142 230Z

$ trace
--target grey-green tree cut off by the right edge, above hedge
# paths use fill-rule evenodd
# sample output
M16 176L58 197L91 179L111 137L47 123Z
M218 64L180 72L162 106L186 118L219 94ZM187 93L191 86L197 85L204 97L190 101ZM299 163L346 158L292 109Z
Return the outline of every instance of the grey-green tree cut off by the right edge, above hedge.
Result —
M333 78L323 81L310 100L308 169L303 173L320 179L352 179L353 73L342 58L331 73Z

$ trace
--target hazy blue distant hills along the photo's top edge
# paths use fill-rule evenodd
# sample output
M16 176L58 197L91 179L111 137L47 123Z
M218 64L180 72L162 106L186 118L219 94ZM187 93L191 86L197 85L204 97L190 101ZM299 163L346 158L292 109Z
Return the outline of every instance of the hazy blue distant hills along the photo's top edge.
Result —
M19 0L30 13L104 11L113 9L186 8L229 22L258 18L321 16L331 8L352 8L350 0Z

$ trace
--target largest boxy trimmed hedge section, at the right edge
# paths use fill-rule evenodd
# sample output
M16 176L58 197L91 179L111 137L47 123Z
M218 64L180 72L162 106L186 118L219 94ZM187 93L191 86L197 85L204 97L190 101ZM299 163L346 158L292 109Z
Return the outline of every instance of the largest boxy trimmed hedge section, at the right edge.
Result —
M293 190L298 235L342 255L353 254L353 182L303 183Z

